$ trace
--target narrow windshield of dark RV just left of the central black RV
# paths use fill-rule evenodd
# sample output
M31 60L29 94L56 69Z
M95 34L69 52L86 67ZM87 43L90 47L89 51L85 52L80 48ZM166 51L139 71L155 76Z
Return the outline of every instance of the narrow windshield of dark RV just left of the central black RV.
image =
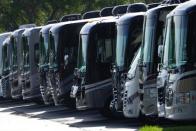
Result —
M50 33L50 41L49 41L49 63L50 66L56 65L56 51L58 45L58 34Z

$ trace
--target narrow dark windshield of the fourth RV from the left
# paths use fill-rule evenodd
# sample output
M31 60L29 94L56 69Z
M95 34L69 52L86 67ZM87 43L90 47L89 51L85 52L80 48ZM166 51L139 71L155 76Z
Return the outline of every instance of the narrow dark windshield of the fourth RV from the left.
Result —
M29 68L29 45L28 45L28 37L22 37L22 60L23 66L25 69Z

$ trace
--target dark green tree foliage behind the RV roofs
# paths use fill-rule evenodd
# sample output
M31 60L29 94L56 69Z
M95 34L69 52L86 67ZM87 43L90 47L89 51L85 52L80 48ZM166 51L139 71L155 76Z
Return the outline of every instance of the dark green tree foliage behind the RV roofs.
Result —
M0 32L13 31L21 24L44 25L65 14L84 13L103 7L159 0L0 0Z

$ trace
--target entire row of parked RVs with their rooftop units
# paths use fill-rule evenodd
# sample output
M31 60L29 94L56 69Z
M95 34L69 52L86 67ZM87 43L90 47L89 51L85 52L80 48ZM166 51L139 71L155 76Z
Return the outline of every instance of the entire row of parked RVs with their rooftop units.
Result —
M22 25L0 34L0 97L195 120L195 23L196 0L164 0Z

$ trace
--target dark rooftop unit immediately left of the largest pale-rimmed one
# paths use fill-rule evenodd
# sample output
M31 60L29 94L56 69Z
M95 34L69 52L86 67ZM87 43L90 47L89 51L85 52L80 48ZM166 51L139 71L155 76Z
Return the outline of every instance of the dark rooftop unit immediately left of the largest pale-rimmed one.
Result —
M114 16L123 15L127 12L127 7L128 7L128 5L115 6L114 9L112 10L112 14Z

